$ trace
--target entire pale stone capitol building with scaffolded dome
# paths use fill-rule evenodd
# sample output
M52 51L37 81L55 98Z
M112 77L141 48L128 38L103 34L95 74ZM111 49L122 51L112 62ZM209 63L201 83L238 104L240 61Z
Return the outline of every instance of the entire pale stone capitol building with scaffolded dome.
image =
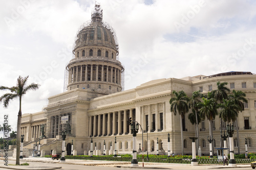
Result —
M106 143L106 151L110 151L115 137L118 154L132 154L133 137L128 123L129 117L132 117L143 129L139 128L137 134L137 150L139 145L142 149L143 143L144 151L156 154L158 139L160 152L167 154L169 133L171 153L181 154L183 147L184 154L191 154L192 141L189 137L196 136L195 125L189 122L186 114L182 120L182 146L180 116L170 112L169 100L173 97L173 90L183 90L188 96L196 90L207 94L217 89L217 82L220 81L227 82L230 90L245 92L248 100L248 103L244 103L245 110L239 113L238 124L235 124L235 129L239 129L239 138L235 131L234 153L238 153L238 145L240 153L245 152L245 138L248 152L255 152L256 75L231 71L211 76L166 78L123 90L122 64L125 63L119 61L115 31L102 20L102 10L96 5L91 20L85 22L76 35L73 57L66 66L67 90L50 96L42 111L23 114L21 132L25 136L24 149L33 150L40 139L40 149L46 154L51 154L53 150L60 154L61 132L67 131L67 155L71 154L72 142L77 155L88 155L91 139L94 148L96 145L96 150L102 155L103 142ZM44 137L42 126L45 127ZM216 116L213 122L214 148L220 148L220 130L225 126ZM207 119L199 124L198 141L205 155L209 155L208 127ZM217 150L214 152L217 153Z

